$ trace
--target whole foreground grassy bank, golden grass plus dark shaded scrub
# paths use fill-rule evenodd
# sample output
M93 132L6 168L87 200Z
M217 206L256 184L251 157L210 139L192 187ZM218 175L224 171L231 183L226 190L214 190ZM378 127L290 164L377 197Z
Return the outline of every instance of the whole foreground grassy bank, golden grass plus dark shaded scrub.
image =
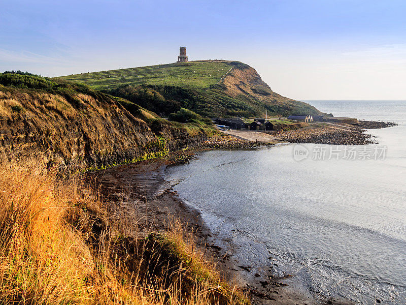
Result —
M179 222L141 240L114 223L92 232L103 204L82 180L60 179L55 168L34 157L0 160L1 304L245 302Z

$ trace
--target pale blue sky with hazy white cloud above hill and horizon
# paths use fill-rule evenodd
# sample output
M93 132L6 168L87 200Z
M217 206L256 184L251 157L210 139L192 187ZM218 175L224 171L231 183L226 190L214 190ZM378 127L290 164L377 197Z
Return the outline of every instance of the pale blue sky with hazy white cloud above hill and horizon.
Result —
M0 72L239 60L296 100L406 100L406 1L0 0Z

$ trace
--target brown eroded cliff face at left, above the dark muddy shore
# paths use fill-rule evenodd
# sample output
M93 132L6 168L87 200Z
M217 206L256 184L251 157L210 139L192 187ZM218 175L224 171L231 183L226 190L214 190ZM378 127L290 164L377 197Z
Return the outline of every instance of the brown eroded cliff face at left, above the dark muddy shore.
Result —
M67 92L0 85L0 147L20 155L40 152L72 170L159 156L206 139L172 126L154 132L106 95Z

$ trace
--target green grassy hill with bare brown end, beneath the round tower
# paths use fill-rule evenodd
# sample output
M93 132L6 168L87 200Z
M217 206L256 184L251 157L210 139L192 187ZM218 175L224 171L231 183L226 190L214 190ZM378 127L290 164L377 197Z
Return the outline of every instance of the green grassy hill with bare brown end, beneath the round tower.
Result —
M157 65L61 76L127 99L167 116L180 108L200 115L246 117L322 114L315 107L283 97L252 67L228 60Z

